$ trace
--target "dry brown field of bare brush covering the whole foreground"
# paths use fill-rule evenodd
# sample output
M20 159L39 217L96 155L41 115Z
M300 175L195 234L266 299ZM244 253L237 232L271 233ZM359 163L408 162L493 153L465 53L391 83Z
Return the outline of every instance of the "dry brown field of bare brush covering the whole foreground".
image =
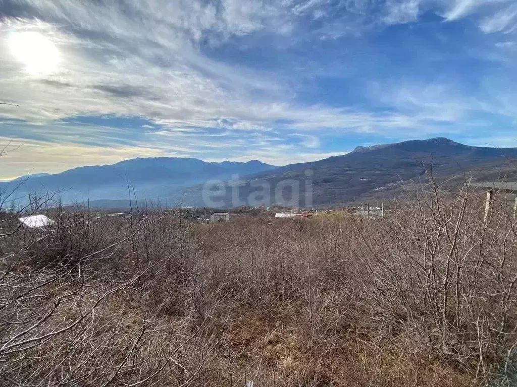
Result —
M39 230L4 211L0 385L514 385L517 224L483 199L214 225L58 206Z

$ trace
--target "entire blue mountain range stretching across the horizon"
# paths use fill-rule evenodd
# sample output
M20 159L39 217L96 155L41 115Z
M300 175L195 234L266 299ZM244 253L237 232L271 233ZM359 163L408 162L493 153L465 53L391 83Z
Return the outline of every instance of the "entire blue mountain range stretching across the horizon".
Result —
M279 198L277 188L286 181L291 185L296 182L301 198L312 191L312 202L302 200L298 205L315 206L388 198L410 181L427 179L431 172L442 180L460 174L472 174L477 181L503 177L512 180L517 172L515 159L517 148L471 147L447 138L432 138L357 147L341 156L283 167L257 160L206 163L193 158L134 158L114 165L19 178L0 183L0 189L21 185L20 192L63 190L61 196L65 202L88 198L94 202L101 200L100 205L113 206L110 200L117 200L117 206L121 206L121 200L128 198L129 184L139 198L204 206L210 188L205 185L207 181L228 181L238 175L238 182L226 184L223 190L219 187L215 193L208 192L217 196L218 206L256 204L261 190L263 194L267 190L268 199L264 204L268 204L268 200L285 204L290 201L290 193L284 192ZM232 190L235 183L239 186L237 194ZM250 198L254 198L253 203Z

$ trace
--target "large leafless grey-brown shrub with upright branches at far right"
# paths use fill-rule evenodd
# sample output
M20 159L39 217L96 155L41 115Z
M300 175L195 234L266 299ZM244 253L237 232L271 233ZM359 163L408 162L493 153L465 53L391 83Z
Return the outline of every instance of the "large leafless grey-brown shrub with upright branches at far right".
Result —
M484 197L421 186L387 221L355 223L355 257L369 269L382 324L486 380L508 370L517 339L517 245L503 192L486 222Z

